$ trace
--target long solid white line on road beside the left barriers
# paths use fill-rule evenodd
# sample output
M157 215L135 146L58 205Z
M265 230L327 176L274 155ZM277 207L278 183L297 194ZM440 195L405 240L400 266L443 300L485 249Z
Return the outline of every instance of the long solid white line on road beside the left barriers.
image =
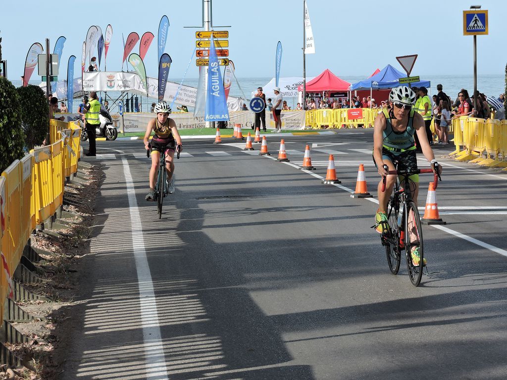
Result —
M123 153L123 152L121 152ZM125 183L127 185L127 196L129 203L132 249L135 258L135 268L137 270L137 286L139 288L139 309L141 311L141 326L144 347L144 366L150 372L150 375L158 376L161 380L168 379L167 366L164 356L164 347L162 345L162 334L157 312L157 301L153 288L153 280L150 272L150 265L146 257L144 248L144 237L142 235L142 224L137 200L135 198L135 188L130 174L130 168L126 158L122 158ZM155 208L154 208L155 210ZM155 352L155 354L154 354ZM156 372L151 372L157 368Z

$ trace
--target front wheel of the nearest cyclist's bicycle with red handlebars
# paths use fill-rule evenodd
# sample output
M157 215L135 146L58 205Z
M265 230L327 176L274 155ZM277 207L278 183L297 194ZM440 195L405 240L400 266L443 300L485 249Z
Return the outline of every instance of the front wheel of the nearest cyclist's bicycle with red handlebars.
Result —
M421 219L414 202L407 202L407 213L405 215L405 256L407 258L407 270L412 284L419 286L422 278L422 268L424 267L424 249ZM419 253L419 262L414 263L412 252L416 251Z

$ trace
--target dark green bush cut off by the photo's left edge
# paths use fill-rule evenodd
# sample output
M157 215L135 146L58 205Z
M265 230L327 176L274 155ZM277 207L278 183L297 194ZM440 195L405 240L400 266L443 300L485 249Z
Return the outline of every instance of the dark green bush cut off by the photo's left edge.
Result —
M0 77L0 172L23 158L24 140L18 92L10 81Z

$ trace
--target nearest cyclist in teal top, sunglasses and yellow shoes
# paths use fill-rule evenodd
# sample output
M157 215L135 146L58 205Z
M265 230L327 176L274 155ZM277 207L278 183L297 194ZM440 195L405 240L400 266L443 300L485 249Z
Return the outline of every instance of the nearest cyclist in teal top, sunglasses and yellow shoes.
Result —
M378 185L379 208L375 215L375 229L379 233L387 229L387 203L392 193L394 181L396 180L396 176L389 175L383 166L387 165L389 170L396 170L392 163L396 160L399 162L398 170L417 169L416 146L414 142L415 133L419 137L424 157L430 162L431 168L435 171L433 164L437 161L426 137L424 120L412 108L415 103L415 97L414 91L407 86L393 88L389 94L389 101L392 107L379 113L374 122L373 160L378 173L382 177L387 177L385 192L381 191L382 179ZM442 171L442 166L438 165L438 167ZM411 175L410 179L415 183L415 189L413 189L412 194L413 201L417 205L419 175ZM417 252L413 253L417 255ZM416 261L415 257L413 259Z

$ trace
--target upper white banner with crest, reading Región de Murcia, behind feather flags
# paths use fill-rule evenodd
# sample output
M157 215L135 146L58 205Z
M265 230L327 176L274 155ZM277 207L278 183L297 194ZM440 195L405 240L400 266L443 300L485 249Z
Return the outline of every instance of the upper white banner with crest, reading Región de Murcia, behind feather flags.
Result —
M167 82L164 99L171 103L176 95L179 85ZM83 75L83 89L85 91L129 91L146 95L146 89L141 83L139 75L135 72L121 71L94 71L85 72ZM158 99L158 80L148 77L148 95ZM194 107L197 97L197 89L190 86L183 86L179 89L175 103ZM229 96L227 107L230 111L240 110L243 101Z

